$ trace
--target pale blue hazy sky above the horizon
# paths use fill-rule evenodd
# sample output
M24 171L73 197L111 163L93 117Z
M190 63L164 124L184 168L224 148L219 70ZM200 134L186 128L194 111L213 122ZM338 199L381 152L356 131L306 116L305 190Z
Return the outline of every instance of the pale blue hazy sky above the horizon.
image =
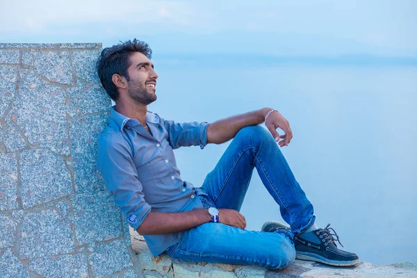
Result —
M1 42L139 38L158 54L417 58L416 1L5 1Z

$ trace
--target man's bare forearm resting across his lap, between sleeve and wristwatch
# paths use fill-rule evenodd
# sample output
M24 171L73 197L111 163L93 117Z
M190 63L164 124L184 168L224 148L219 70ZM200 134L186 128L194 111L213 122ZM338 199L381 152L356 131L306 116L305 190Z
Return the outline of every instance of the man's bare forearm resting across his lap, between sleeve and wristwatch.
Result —
M197 227L210 220L211 215L206 209L181 213L150 212L136 231L141 235L173 234Z

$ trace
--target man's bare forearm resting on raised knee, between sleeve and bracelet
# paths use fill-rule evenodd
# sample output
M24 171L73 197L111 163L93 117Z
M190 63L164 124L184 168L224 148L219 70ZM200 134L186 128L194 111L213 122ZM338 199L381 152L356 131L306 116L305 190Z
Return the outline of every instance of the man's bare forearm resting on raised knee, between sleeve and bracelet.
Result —
M229 141L243 127L263 123L265 115L270 110L271 108L262 108L212 122L207 128L207 142L222 144Z

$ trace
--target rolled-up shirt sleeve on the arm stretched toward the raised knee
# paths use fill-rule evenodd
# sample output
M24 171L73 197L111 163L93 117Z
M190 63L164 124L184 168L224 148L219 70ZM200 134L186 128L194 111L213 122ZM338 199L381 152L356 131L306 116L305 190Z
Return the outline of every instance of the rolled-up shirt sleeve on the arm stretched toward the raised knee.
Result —
M206 147L208 122L176 123L172 120L161 120L168 132L168 142L172 149L189 146L200 146L201 149Z

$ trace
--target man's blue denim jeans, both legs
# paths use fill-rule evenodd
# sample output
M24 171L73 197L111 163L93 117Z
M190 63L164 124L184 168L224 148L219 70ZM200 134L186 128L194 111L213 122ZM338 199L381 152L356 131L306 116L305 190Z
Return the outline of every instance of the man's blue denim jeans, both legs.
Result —
M240 211L254 167L279 204L282 218L290 224L292 232L247 231L209 222L183 231L180 242L166 251L172 259L260 265L270 269L293 263L293 234L308 229L315 216L313 206L269 131L261 126L240 129L202 187L197 189L197 195L205 207Z

